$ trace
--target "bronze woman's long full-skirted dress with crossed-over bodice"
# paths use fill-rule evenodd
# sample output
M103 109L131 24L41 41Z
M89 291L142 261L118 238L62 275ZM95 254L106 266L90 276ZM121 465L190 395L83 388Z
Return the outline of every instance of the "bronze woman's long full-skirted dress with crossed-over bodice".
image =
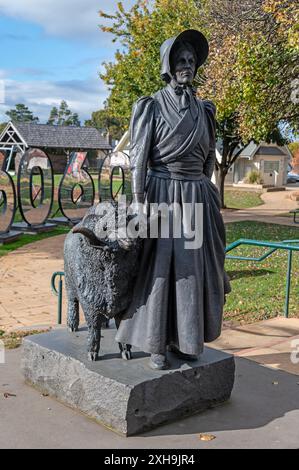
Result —
M155 354L168 345L198 355L221 333L225 294L225 228L210 178L215 163L215 106L168 85L137 101L131 119L133 192L147 204L203 206L203 243L187 249L184 236L146 238L133 299L116 340ZM147 170L148 167L148 170ZM193 219L194 220L194 219ZM172 233L171 233L172 235Z

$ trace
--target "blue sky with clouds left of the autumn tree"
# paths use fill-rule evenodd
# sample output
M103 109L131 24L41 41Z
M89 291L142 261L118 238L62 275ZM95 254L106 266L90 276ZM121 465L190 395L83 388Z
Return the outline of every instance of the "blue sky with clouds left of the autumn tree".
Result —
M26 104L40 122L63 99L82 123L102 106L108 91L98 74L103 61L113 61L116 45L100 31L98 11L113 12L116 5L117 0L0 0L0 122L16 103Z

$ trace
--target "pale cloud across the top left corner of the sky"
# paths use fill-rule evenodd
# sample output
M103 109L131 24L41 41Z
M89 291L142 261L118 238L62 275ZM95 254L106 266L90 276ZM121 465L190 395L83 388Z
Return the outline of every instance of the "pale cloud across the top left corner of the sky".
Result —
M125 8L134 0L125 0ZM101 33L98 11L114 12L117 0L0 0L0 13L40 25L50 35L108 40Z

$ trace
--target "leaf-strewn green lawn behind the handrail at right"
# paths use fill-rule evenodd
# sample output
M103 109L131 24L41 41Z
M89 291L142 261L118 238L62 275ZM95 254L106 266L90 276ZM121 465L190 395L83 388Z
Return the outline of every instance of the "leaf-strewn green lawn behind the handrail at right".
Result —
M262 222L226 224L227 245L239 238L281 241L299 239L298 227ZM299 244L299 243L298 243ZM242 246L231 255L260 256L266 248ZM266 320L284 314L287 251L277 251L262 262L226 260L232 292L227 296L224 319L230 321ZM289 316L299 317L299 252L293 252Z

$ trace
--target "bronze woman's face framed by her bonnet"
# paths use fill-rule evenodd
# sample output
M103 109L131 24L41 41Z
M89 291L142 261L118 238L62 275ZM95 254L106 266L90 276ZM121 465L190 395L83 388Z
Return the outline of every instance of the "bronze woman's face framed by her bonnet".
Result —
M180 85L191 85L196 72L196 60L189 49L179 49L173 57L173 75Z

